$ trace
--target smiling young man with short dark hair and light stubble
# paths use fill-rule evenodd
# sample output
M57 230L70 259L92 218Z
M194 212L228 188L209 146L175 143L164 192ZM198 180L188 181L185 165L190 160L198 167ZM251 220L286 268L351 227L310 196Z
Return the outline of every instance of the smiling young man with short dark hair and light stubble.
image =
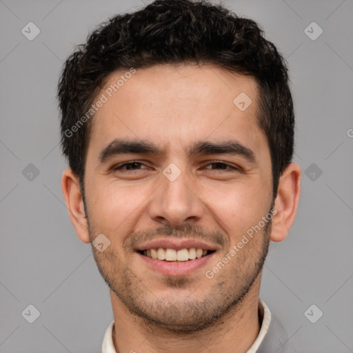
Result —
M190 0L112 17L66 61L59 105L63 194L110 288L103 353L294 352L259 299L301 169L257 24Z

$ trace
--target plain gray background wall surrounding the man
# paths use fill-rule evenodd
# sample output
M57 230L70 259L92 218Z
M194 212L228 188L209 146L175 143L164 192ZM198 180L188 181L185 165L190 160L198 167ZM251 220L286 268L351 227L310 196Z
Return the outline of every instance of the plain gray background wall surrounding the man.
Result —
M296 108L299 212L288 239L271 245L261 298L299 352L353 352L353 2L224 3L259 21L288 59ZM56 86L94 26L142 5L0 0L1 353L101 351L110 296L61 194ZM41 31L32 41L21 33L30 21ZM312 21L316 40L305 32ZM32 324L21 315L30 304L40 312ZM312 304L310 319L323 312L316 323L304 315Z

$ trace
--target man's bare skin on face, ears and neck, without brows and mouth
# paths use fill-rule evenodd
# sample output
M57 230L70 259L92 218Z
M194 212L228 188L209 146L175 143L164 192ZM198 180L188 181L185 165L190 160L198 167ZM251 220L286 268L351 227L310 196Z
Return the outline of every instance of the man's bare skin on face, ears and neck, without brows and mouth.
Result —
M111 74L105 88L121 74ZM241 92L252 99L244 111L233 103ZM79 180L72 170L63 172L63 194L79 239L90 243L104 234L110 241L103 252L92 250L110 286L117 352L207 347L242 353L259 334L262 265L270 240L285 239L294 221L299 165L290 163L281 175L268 227L212 279L205 276L272 206L270 150L256 119L257 97L254 79L214 65L139 69L94 117L85 164L87 218ZM152 141L165 153L123 154L100 163L101 150L117 138ZM230 139L250 148L256 162L241 155L187 153L195 141ZM131 161L142 165L125 167L125 173L112 170ZM210 164L214 161L238 169ZM163 174L170 163L181 171L174 181ZM161 274L141 260L134 245L168 232L174 239L204 239L216 252L192 274Z

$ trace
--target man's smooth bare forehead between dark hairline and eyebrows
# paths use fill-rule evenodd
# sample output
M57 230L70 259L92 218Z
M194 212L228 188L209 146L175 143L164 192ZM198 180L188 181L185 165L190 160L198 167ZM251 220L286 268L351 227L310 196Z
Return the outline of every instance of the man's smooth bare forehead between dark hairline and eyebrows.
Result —
M119 70L95 101L101 97L105 103L94 115L89 143L97 153L118 137L153 141L176 154L201 140L235 138L252 148L266 143L254 79L214 65Z

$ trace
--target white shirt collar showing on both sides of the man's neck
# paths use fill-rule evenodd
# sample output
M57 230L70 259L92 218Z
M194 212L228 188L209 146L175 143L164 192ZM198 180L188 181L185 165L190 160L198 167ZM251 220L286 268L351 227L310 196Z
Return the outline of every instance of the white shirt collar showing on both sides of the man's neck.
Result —
M252 343L252 346L249 348L249 350L246 353L256 353L265 335L268 333L268 327L270 327L270 322L271 322L270 309L261 299L259 299L259 302L261 303L262 309L263 309L263 320L261 324L261 329L259 334L256 337L256 340L254 341L254 343ZM117 353L115 351L113 339L112 339L113 327L114 327L114 320L109 324L107 330L105 331L103 344L102 344L102 353Z

